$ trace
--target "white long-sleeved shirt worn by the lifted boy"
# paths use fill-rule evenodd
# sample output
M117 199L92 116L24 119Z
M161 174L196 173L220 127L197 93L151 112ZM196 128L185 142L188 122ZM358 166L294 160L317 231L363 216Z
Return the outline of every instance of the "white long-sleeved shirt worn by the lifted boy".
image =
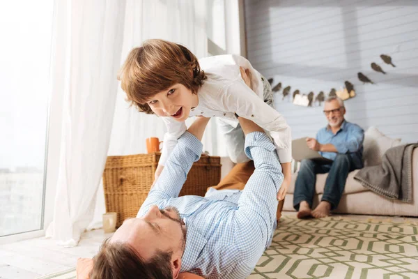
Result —
M264 103L261 74L251 63L242 56L226 54L199 59L199 64L208 78L197 93L199 105L190 111L189 117L222 117L224 121L236 127L236 112L270 133L280 163L291 162L291 128L277 110ZM240 66L250 70L254 91L242 80ZM167 133L164 135L160 165L165 164L178 138L187 130L185 122L176 121L171 117L162 119L166 123Z

